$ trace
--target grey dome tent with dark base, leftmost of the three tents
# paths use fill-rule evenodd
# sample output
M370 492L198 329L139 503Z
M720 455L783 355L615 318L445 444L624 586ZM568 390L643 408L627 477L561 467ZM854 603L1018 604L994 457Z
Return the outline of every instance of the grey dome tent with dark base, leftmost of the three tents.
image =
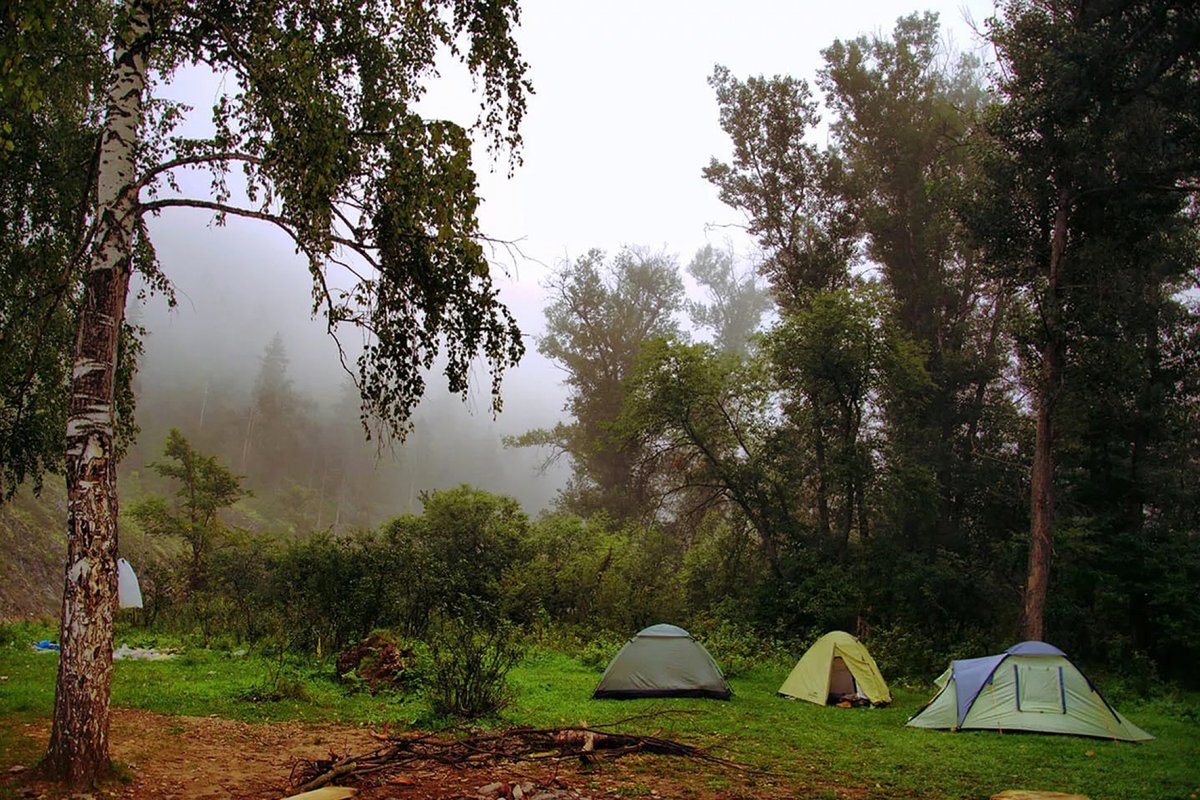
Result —
M604 670L592 697L714 697L733 692L713 657L676 625L652 625L625 643Z

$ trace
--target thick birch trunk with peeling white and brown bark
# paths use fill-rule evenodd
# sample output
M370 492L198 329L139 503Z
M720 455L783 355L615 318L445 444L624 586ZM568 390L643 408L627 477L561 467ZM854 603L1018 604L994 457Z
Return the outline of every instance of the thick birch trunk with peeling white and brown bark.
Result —
M149 8L131 4L114 53L97 173L97 229L84 277L66 431L67 565L47 770L72 786L110 769L108 700L116 603L114 383L137 215Z

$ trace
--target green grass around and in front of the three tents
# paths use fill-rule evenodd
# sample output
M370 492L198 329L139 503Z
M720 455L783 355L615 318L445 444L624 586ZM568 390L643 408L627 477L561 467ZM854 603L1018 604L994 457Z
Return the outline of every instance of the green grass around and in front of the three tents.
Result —
M836 709L786 700L786 675L760 667L730 680L733 699L589 700L599 675L559 655L514 672L512 722L572 724L692 709L644 722L667 736L700 736L714 753L764 766L799 786L856 787L869 796L978 798L1039 788L1094 800L1189 799L1200 792L1200 697L1127 703L1122 712L1158 739L1145 745L1036 734L918 730L905 722L929 691L893 687L884 709ZM1088 754L1091 753L1091 754Z

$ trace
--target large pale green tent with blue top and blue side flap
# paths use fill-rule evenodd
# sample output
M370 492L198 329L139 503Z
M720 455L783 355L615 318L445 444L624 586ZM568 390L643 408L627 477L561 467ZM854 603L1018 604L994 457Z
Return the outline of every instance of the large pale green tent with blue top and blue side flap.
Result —
M908 724L949 730L1032 730L1145 741L1058 648L1021 642L1004 652L950 662L941 687Z

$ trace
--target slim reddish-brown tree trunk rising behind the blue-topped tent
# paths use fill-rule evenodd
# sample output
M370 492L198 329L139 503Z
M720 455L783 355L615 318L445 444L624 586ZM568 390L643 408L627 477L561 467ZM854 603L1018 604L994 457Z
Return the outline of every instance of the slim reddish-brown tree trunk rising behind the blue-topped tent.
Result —
M1022 609L1024 636L1030 640L1045 638L1046 590L1050 585L1050 560L1054 554L1054 415L1062 380L1062 325L1058 296L1062 257L1067 248L1067 209L1069 196L1058 194L1054 235L1050 240L1050 265L1042 315L1045 342L1042 345L1042 385L1038 391L1037 441L1030 481L1030 564L1025 582Z

